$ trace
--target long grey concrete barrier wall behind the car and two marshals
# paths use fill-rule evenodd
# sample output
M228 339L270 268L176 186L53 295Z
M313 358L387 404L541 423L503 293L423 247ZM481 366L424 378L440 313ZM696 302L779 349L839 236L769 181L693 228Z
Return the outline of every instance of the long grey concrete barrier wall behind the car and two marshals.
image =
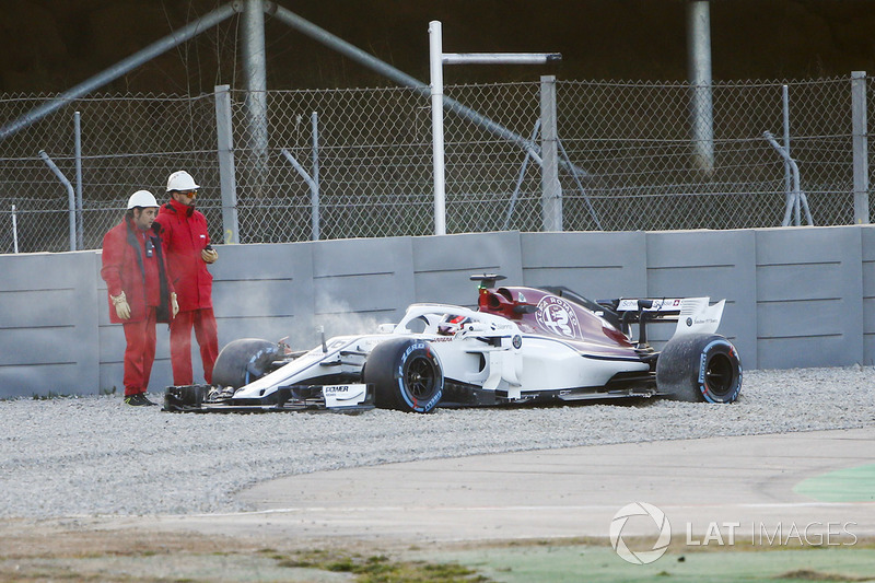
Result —
M565 285L592 299L726 299L721 333L746 369L873 364L875 228L485 233L219 247L219 341L310 348L395 322L413 302L474 306L468 276ZM98 252L0 256L0 397L117 393L125 339ZM655 326L657 346L672 326ZM159 325L151 387L172 383ZM192 362L202 377L197 345Z

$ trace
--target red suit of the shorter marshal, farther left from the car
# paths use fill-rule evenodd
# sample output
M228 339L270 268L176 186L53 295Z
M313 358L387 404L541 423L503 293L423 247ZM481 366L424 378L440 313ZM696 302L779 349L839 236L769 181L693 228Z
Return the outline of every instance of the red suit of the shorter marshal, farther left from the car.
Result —
M128 219L103 237L101 277L109 292L109 322L125 328L125 396L145 393L155 360L155 323L170 322L173 283L161 238L153 230L141 231ZM116 314L112 296L125 292L130 318Z

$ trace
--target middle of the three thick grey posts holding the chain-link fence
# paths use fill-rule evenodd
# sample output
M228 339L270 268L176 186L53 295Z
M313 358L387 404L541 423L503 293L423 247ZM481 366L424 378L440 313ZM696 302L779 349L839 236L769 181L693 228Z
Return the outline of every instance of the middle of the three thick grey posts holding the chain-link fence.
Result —
M544 231L562 231L562 187L556 128L556 75L540 78L541 218Z

